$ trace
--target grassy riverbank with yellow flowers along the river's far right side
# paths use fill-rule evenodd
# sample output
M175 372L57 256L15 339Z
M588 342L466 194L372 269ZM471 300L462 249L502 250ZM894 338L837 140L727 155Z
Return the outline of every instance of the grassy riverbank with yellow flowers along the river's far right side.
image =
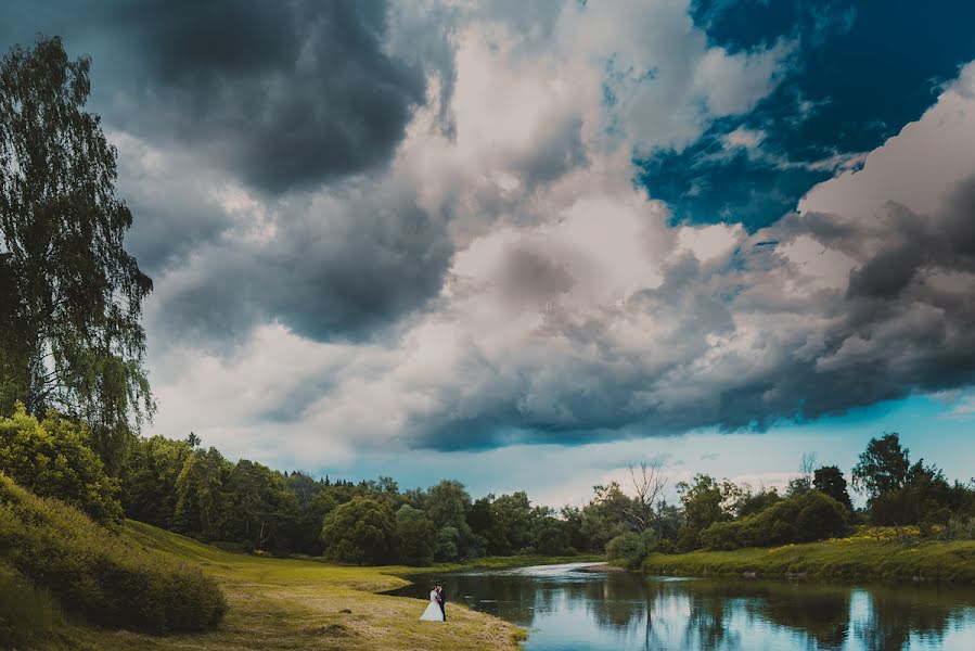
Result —
M975 541L921 541L887 529L773 548L651 554L650 574L808 577L829 580L937 582L975 585Z

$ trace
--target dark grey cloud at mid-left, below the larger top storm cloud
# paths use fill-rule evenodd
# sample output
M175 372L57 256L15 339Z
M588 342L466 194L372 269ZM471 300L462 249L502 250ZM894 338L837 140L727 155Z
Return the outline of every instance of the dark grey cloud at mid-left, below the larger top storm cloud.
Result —
M232 350L258 323L315 341L363 340L435 296L452 254L446 225L396 183L280 203L268 237L196 251L157 290L161 335Z

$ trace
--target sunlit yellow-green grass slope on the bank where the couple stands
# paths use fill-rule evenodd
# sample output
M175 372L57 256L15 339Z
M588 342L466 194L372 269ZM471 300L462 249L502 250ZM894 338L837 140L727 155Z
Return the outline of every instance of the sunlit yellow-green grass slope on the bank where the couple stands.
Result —
M420 622L424 601L374 593L405 585L393 574L415 572L413 567L355 567L233 553L131 521L124 535L216 577L229 602L223 623L210 633L166 637L81 627L73 631L72 648L474 651L515 650L524 637L517 627L457 603L448 605L447 624Z

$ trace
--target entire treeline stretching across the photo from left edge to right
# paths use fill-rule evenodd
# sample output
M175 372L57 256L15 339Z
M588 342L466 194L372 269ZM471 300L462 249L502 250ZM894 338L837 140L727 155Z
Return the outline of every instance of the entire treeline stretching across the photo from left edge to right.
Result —
M89 442L82 423L56 412L38 421L21 407L0 418L0 470L105 524L126 516L204 541L338 562L606 551L639 565L652 551L806 542L843 536L851 524L919 525L932 538L975 532L975 484L912 463L897 434L872 439L850 472L867 496L862 509L839 468L816 468L812 457L782 492L698 474L677 484L676 503L664 499L663 468L634 465L623 485L595 486L583 507L556 511L524 492L474 499L454 480L403 490L390 477L354 483L232 462L193 434L137 439L110 476Z

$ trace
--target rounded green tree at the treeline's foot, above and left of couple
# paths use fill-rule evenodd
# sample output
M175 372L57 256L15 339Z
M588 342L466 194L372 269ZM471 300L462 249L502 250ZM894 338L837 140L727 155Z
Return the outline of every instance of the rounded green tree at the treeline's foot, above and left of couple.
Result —
M325 556L341 563L380 565L389 559L394 516L388 505L355 497L322 523Z

